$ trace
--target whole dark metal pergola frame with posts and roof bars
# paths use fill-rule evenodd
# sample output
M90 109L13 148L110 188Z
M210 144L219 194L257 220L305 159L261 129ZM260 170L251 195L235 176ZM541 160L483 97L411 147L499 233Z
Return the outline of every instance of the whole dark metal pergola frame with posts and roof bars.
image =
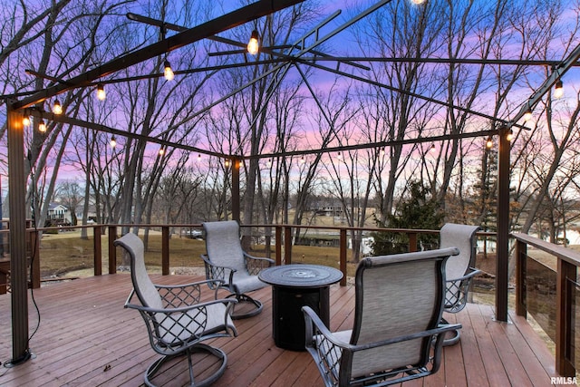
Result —
M76 77L73 77L66 82L57 82L51 87L39 92L34 92L32 95L24 97L22 100L11 100L6 103L7 107L7 131L8 131L8 166L9 166L9 208L10 208L10 245L11 245L11 279L12 279L12 326L13 326L13 360L10 362L13 365L18 363L24 363L31 356L30 349L28 347L28 301L27 301L27 276L26 276L26 254L25 254L25 236L26 236L26 225L25 225L25 176L24 176L24 125L23 116L24 112L30 113L32 115L41 115L44 118L49 118L53 121L67 122L73 125L78 125L97 131L106 131L113 134L119 134L127 137L140 138L142 140L148 140L150 142L160 143L161 145L172 146L176 148L182 148L184 150L197 151L199 153L210 154L213 156L223 157L230 160L234 160L234 166L232 173L232 203L233 212L235 217L239 218L239 163L241 160L249 160L253 158L271 158L279 156L294 156L300 154L312 154L321 152L332 152L337 150L355 150L363 148L372 147L388 147L393 145L400 145L404 143L419 143L425 141L433 140L451 140L469 137L479 137L479 136L489 136L498 135L499 136L499 147L498 147L498 270L496 277L496 318L498 321L507 321L507 266L508 266L508 222L509 222L509 163L510 163L510 144L507 140L507 133L511 131L512 127L522 128L521 125L517 124L524 113L536 106L536 103L541 100L541 98L549 91L551 87L554 86L556 81L567 72L567 70L576 65L576 61L580 57L580 45L576 47L573 53L569 55L565 61L559 63L554 61L542 62L546 65L551 65L554 71L546 79L546 81L541 85L540 88L530 97L527 103L523 104L521 110L517 112L511 121L501 121L495 117L488 117L482 113L476 111L468 111L487 119L490 119L498 123L498 129L490 131L478 131L475 133L461 133L459 135L443 135L435 136L429 138L419 138L401 141L383 141L375 142L372 144L360 144L346 147L335 147L327 148L324 150L296 150L285 153L276 154L262 154L259 156L248 156L243 155L225 155L216 152L210 152L208 150L201 150L196 147L190 147L183 144L176 144L174 142L160 140L159 138L153 138L149 136L142 136L136 133L128 133L126 131L119 131L114 128L109 128L104 125L95 124L92 122L81 121L73 118L67 118L62 116L54 116L52 113L36 111L31 109L35 104L43 102L44 100L51 98L69 90L79 88L79 87L90 87L96 82L95 80L100 79L103 76L109 75L111 73L118 72L122 69L130 67L133 64L141 63L143 61L149 60L150 58L159 56L169 51L175 50L181 46L192 44L198 42L201 39L214 39L222 43L239 45L236 42L225 40L223 38L218 38L215 34L226 31L228 29L234 28L237 25L245 24L249 21L255 20L259 17L272 14L276 11L282 10L288 6L296 5L303 2L304 0L257 0L256 3L247 5L243 8L238 9L227 15L220 16L213 19L205 24L200 24L196 27L186 29L184 27L176 26L174 24L165 24L166 27L175 29L179 31L178 34L164 38L158 43L150 44L140 50L133 53L121 56L120 58L114 59L109 63L104 63L101 66L88 71L87 73L82 73ZM372 12L374 9L379 8L382 5L389 3L391 0L382 0L370 9ZM370 13L369 12L369 13ZM368 13L367 13L368 15ZM133 15L135 17L136 15ZM359 15L361 16L361 15ZM131 15L130 15L131 17ZM333 17L333 16L330 16ZM138 20L143 18L143 16L137 16L133 20ZM358 20L358 19L356 19ZM353 20L351 24L356 21ZM145 21L145 20L140 20ZM150 19L148 23L155 24L158 21ZM342 27L345 28L343 25ZM331 33L333 35L335 32ZM329 36L330 36L329 35ZM328 37L329 38L329 37ZM322 43L317 42L317 44ZM369 80L362 79L353 74L344 73L338 68L336 70L323 66L319 63L314 63L312 58L301 57L304 53L314 53L316 61L335 61L338 63L345 63L347 65L360 66L356 62L360 61L384 61L384 62L395 62L395 61L423 61L429 62L429 59L413 59L413 58L338 58L331 57L330 55L324 55L323 53L314 52L314 44L310 47L304 47L304 41L301 45L296 45L295 48L298 49L298 53L295 55L283 55L280 59L280 64L275 66L275 69L281 70L285 66L291 63L304 63L307 65L314 66L322 70L330 71L335 74L348 76L355 80L361 80L363 82L370 82L371 84L385 87L393 92L405 92L399 89L391 87L391 85L386 85L378 82L372 82ZM271 47L271 49L274 47ZM277 47L275 47L277 48ZM276 54L274 51L270 50L268 53ZM281 54L277 53L278 56ZM432 60L435 61L435 60ZM444 60L439 60L444 61ZM453 62L448 60L447 63ZM459 60L455 60L459 63ZM259 62L256 62L259 63ZM256 63L245 63L245 65L251 65ZM266 61L264 62L266 63ZM461 63L469 63L469 60L463 60ZM478 62L479 63L479 62ZM493 64L493 61L488 61L488 63ZM521 62L518 62L521 63ZM517 64L517 63L514 63ZM232 65L233 66L233 65ZM207 70L207 69L206 69ZM203 71L196 70L196 71ZM176 73L188 73L188 72L176 72ZM271 73L271 72L270 72ZM264 76L264 75L262 75ZM140 77L142 79L144 77ZM137 78L136 78L137 79ZM304 82L308 83L303 77ZM130 81L131 79L126 79L124 81ZM112 80L106 81L106 83L111 82L123 82L123 80ZM253 81L253 82L256 82ZM417 97L423 100L429 100L430 102L441 103L449 106L445 102L438 102L435 100L428 99L427 97L421 96L419 94L414 94L411 92L405 92L413 97ZM223 101L220 99L218 102ZM215 106L218 102L214 102L211 106ZM463 110L457 106L453 106L453 109Z

